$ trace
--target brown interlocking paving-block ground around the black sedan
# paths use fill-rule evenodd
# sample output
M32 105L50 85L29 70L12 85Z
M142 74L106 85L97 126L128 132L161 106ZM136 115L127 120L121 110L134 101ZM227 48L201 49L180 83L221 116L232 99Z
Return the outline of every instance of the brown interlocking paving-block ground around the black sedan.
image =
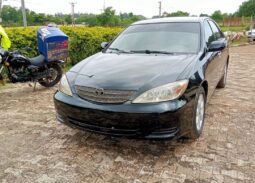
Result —
M0 182L255 182L255 46L231 49L228 85L195 142L70 129L55 120L55 90L0 88Z

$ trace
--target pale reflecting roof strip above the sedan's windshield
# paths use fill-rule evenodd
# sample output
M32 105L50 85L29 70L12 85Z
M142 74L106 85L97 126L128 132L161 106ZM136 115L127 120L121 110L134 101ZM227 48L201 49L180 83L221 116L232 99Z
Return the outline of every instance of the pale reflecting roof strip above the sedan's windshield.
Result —
M203 22L205 19L210 19L210 18L209 17L166 17L166 18L142 20L142 21L135 22L132 25L167 23L167 22Z

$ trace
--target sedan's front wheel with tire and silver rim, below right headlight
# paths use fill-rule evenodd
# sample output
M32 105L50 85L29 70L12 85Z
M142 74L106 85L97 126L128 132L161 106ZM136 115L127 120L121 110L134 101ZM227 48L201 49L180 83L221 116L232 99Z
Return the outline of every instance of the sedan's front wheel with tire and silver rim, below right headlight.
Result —
M185 137L196 140L200 137L204 127L206 109L206 95L203 87L200 87L196 93L195 107L193 111L191 130Z

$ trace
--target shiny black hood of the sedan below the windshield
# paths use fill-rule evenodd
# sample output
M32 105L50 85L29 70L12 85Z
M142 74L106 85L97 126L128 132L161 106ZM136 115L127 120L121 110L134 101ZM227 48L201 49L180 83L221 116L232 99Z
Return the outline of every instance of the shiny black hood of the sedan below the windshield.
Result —
M78 64L75 85L139 90L174 82L196 58L194 54L96 54ZM72 71L72 70L71 70Z

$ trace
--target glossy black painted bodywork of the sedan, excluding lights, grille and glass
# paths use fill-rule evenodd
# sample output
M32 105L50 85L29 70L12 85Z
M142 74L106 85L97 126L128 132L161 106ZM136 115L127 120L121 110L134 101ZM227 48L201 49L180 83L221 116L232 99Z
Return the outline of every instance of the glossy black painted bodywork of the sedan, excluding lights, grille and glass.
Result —
M209 19L198 20L201 30L207 20ZM73 96L66 96L61 92L55 94L58 120L72 127L119 136L167 138L188 133L193 119L197 89L205 89L208 101L223 76L223 69L229 58L226 39L222 40L226 42L222 51L209 52L204 31L201 33L201 49L197 54L98 53L80 62L67 73ZM123 60L125 62L122 62ZM189 79L189 85L179 99L155 104L132 103L134 98L148 89L182 79ZM97 104L79 98L74 88L76 84L110 89L134 89L137 93L124 104ZM133 118L130 118L130 115L133 115ZM79 123L70 122L70 118ZM140 124L139 128L136 126L133 129L132 123ZM167 129L173 127L173 124L176 130L168 133ZM122 128L134 131L127 135L121 133ZM159 133L164 129L166 133Z

